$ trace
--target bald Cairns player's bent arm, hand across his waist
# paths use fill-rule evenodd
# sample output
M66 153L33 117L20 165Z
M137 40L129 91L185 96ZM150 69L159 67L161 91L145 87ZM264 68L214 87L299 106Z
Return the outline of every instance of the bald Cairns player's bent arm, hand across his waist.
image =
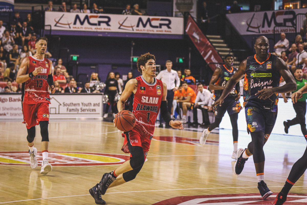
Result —
M262 90L259 90L258 93L255 95L258 95L259 99L266 99L273 95L274 93L288 93L296 89L296 82L294 80L293 75L291 74L290 70L288 69L285 61L283 61L281 58L276 59L276 69L281 74L281 76L285 79L286 84L280 87L274 87L274 88L265 88Z

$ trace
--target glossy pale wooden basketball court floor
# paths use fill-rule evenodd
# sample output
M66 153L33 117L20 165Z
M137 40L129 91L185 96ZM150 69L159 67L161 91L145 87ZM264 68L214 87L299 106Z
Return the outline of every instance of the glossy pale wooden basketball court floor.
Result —
M36 128L34 146L41 151L40 128ZM25 124L1 120L0 129L0 204L95 204L88 189L100 181L103 173L129 157L121 151L123 138L113 123L51 120L49 161L54 161L53 170L41 175L40 156L36 170L28 164ZM306 148L303 137L270 136L264 147L265 181L274 194L262 201L252 157L241 175L232 171L235 160L231 159L231 130L211 133L204 147L198 142L201 131L156 128L147 161L136 179L110 188L102 198L110 205L272 204L293 163ZM247 132L239 131L239 148L245 148L249 141ZM307 193L305 175L290 193ZM210 196L211 201L203 202L207 195L220 196ZM297 203L288 204L307 204L306 197L298 195Z

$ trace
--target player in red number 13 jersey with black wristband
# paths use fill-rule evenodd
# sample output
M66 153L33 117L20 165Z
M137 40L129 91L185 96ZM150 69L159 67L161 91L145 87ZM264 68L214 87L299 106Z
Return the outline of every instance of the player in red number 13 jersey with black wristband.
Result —
M34 56L25 57L17 73L16 82L22 83L21 106L23 112L23 123L25 123L28 136L28 146L30 155L30 165L32 169L37 168L37 148L34 147L35 126L41 128L41 148L43 161L41 164L41 174L46 175L52 170L48 162L49 144L49 86L51 93L55 93L53 77L51 74L52 62L46 58L48 39L38 38L35 41L36 53Z

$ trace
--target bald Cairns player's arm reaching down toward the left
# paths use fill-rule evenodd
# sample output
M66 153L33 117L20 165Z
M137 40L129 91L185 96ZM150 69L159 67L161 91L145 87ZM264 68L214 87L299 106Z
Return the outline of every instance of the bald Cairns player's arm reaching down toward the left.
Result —
M246 70L246 62L247 62L247 59L243 60L240 63L239 69L237 70L237 72L235 72L235 74L233 74L230 77L230 79L226 83L226 86L223 90L221 97L217 101L215 101L214 104L212 104L213 110L215 110L214 106L216 106L218 104L220 104L220 106L222 106L222 103L224 102L225 97L231 92L231 90L235 87L237 82L239 82L242 79L242 77L245 74L245 70Z

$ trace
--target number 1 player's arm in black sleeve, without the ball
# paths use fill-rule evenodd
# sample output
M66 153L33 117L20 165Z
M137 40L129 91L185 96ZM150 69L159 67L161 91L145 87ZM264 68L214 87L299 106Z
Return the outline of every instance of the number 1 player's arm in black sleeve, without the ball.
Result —
M183 129L181 121L172 120L171 115L169 114L169 111L167 109L166 95L167 95L167 86L165 83L163 83L163 95L162 95L162 101L161 101L161 106L160 106L161 116L163 117L163 120L166 123L168 123L172 128Z

